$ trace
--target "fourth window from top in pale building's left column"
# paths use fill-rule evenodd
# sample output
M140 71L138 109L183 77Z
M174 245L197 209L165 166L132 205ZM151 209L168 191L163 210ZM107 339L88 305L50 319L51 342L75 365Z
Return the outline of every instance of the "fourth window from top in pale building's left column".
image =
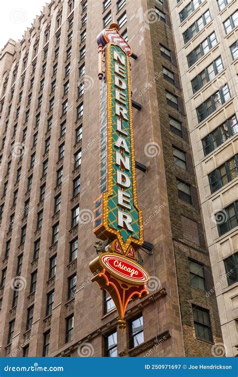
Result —
M223 64L219 56L191 81L193 93L196 93L203 85L212 80L222 69Z

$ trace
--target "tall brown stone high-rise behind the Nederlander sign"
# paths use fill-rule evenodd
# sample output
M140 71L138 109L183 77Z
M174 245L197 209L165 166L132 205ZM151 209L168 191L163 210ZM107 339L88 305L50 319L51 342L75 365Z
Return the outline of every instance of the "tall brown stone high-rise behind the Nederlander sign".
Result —
M124 336L88 268L99 196L96 36L111 22L134 52L140 254L152 276L149 296L128 306ZM54 0L0 59L1 355L214 354L222 338L168 3Z

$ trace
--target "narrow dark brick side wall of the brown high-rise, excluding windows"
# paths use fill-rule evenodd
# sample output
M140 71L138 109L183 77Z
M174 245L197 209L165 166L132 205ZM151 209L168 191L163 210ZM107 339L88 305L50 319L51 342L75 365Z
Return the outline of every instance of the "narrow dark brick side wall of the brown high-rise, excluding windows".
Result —
M161 74L160 79L156 80L156 88L159 103L159 117L169 199L171 232L172 237L174 238L174 254L176 260L185 354L186 356L210 356L212 345L196 339L193 325L192 305L199 305L204 309L209 310L214 343L222 341L220 322L214 293L206 298L206 291L209 292L214 284L208 250L205 245L192 151L186 124L186 115L184 113L183 93L180 89L181 86L176 63L175 46L170 28L169 11L167 6L162 9L161 7L158 7L158 3L155 1L148 1L148 8L152 9L155 6L166 14L167 25L161 20L150 24L154 69L157 72L161 72L163 66L165 66L175 74L175 85L168 82L163 74ZM159 43L172 51L172 62L161 56ZM165 90L178 96L179 110L176 110L167 104ZM171 115L173 118L182 122L183 138L175 135L170 130L168 115ZM183 169L174 164L173 146L186 152L187 169ZM176 178L191 185L193 205L187 204L178 199ZM206 271L206 291L191 287L188 258L204 263Z

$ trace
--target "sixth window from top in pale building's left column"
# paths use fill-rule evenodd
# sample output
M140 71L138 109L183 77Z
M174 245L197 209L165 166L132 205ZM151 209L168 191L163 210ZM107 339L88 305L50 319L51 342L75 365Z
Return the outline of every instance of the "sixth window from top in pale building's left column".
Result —
M212 152L219 145L223 144L227 139L238 132L238 124L236 116L226 120L222 125L217 127L214 131L202 139L203 151L206 156Z

